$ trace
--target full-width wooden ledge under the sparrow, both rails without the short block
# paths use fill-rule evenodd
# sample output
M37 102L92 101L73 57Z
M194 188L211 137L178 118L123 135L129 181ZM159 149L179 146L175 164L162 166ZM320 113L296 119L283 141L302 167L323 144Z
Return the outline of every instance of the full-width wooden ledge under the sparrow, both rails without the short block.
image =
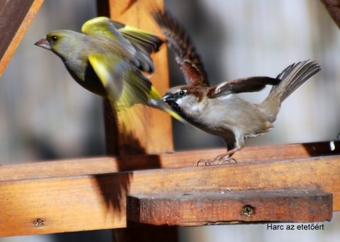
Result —
M339 142L249 147L237 164L195 165L220 151L0 166L0 236L125 228L127 196L136 194L322 190L340 210Z

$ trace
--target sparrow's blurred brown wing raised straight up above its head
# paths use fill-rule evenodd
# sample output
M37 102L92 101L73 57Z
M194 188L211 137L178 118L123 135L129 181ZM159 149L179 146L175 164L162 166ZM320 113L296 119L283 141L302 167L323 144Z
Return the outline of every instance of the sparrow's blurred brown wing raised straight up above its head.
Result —
M209 81L193 41L176 19L167 12L153 11L152 16L161 28L169 47L174 51L186 84L209 86Z

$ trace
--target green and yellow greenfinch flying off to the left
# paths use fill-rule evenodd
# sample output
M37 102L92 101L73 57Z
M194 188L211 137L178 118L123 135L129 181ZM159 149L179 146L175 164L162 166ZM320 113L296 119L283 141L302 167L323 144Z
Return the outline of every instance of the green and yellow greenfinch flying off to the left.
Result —
M57 54L77 83L108 98L118 112L141 103L182 120L141 72L154 71L150 54L163 40L106 17L86 21L81 32L55 30L35 45Z

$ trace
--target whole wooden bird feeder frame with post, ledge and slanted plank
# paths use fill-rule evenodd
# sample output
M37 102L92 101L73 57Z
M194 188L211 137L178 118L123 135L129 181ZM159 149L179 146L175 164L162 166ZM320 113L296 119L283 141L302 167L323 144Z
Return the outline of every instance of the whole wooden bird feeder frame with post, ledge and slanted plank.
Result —
M41 4L0 4L0 75ZM98 14L158 33L136 4L98 0ZM166 51L154 62L164 93ZM237 164L198 167L225 149L172 152L171 120L158 110L147 134L125 137L104 107L108 156L0 166L0 236L128 229L127 241L177 241L176 226L329 221L340 210L340 142L246 147ZM145 154L118 156L136 147Z

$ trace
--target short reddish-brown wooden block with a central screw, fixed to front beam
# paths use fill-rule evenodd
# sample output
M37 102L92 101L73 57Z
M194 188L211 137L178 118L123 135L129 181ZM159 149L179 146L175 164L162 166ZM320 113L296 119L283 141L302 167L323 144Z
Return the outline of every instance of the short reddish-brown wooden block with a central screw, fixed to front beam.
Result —
M130 194L128 221L169 226L330 221L330 193L319 190L209 190Z

